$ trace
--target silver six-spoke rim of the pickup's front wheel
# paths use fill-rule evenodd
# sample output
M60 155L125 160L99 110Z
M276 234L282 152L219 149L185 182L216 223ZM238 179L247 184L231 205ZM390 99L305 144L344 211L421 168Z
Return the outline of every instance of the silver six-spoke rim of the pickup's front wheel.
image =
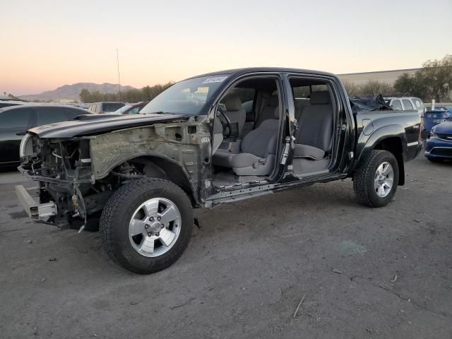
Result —
M172 201L165 198L145 201L129 222L129 240L133 249L148 257L167 253L179 237L181 222L181 213Z

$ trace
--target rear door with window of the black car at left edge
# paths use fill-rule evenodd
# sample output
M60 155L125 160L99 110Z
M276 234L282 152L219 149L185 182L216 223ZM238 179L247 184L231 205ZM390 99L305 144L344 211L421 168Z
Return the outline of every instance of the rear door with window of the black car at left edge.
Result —
M0 163L20 161L20 141L32 127L34 114L33 107L0 112Z

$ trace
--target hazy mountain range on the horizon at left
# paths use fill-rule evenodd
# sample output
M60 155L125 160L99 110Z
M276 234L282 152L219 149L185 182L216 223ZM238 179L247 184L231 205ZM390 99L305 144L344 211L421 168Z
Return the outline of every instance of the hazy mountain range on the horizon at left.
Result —
M119 85L117 83L74 83L73 85L63 85L56 90L46 90L39 94L20 95L24 100L79 100L80 92L86 88L90 92L98 90L100 93L117 93ZM121 86L121 91L133 90L132 86Z

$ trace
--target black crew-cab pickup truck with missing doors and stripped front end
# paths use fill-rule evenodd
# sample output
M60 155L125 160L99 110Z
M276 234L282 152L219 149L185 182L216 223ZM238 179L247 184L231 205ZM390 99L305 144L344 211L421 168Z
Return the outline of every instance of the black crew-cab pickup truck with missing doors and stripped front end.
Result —
M16 193L37 222L99 220L114 262L153 273L186 249L193 208L347 177L359 202L385 206L420 153L419 133L415 110L353 112L331 73L220 71L175 83L141 114L30 129L18 169L38 183L39 202Z

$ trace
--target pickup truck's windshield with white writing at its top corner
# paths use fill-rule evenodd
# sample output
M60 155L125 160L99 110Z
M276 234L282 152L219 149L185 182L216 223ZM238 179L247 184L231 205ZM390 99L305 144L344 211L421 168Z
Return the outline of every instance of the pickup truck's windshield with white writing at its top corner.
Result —
M201 76L174 83L145 105L140 113L197 115L227 76L227 74Z

